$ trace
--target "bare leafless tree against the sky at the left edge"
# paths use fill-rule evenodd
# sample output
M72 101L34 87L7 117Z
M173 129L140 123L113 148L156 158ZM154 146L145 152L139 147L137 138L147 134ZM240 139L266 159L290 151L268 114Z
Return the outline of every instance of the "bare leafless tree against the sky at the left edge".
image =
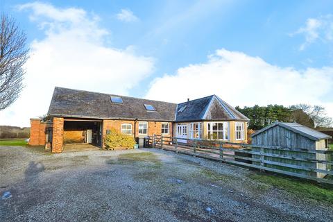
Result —
M11 105L22 91L23 68L28 60L26 34L15 19L1 15L0 24L0 110Z

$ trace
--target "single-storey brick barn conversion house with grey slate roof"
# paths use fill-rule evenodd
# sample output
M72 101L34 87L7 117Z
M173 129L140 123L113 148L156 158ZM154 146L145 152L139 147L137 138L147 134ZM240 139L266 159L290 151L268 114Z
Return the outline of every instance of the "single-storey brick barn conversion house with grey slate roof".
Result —
M135 138L155 134L244 143L249 121L216 95L175 104L61 87L54 89L48 115L49 123L31 119L29 144L46 144L54 153L73 143L103 148L112 128Z

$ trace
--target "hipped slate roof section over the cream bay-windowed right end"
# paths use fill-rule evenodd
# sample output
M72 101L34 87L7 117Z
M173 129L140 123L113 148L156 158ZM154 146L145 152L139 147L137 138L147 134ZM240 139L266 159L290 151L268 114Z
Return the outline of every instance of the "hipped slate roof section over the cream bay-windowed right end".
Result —
M179 110L186 105L186 108ZM241 120L249 121L219 96L212 95L200 99L194 99L185 103L179 103L176 112L176 121L200 121L200 120Z

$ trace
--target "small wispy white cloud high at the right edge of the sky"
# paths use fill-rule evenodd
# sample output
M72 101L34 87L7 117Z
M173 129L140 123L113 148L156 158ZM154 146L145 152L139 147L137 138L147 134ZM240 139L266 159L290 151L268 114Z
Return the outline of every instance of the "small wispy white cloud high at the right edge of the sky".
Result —
M296 33L291 34L305 35L305 42L300 45L300 50L304 50L310 44L313 44L317 40L323 42L332 42L333 40L333 15L325 15L317 18L309 18L302 26L296 31Z

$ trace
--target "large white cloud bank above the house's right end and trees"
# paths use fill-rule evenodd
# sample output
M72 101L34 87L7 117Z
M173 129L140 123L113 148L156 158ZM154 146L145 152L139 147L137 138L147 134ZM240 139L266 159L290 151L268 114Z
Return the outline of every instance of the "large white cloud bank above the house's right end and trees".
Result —
M156 78L148 99L180 103L217 94L231 105L324 105L333 117L333 67L277 67L237 51L217 50L203 64ZM324 98L327 98L326 100Z

